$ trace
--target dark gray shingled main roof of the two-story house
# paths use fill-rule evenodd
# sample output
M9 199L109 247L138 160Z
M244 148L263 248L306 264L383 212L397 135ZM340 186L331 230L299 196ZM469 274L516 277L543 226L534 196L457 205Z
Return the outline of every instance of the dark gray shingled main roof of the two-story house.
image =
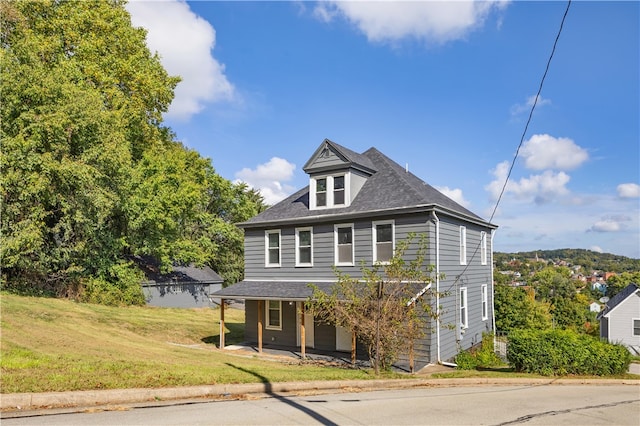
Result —
M307 186L261 214L240 223L239 226L250 228L271 222L299 222L322 219L326 216L370 215L373 217L388 214L390 211L434 208L486 226L495 227L425 183L413 173L406 171L377 149L370 148L362 154L356 154L334 142L329 142L351 161L362 163L364 162L363 158L366 158L368 166L375 170L375 173L367 178L366 183L349 207L321 211L310 210L309 187ZM355 156L358 158L354 158Z

